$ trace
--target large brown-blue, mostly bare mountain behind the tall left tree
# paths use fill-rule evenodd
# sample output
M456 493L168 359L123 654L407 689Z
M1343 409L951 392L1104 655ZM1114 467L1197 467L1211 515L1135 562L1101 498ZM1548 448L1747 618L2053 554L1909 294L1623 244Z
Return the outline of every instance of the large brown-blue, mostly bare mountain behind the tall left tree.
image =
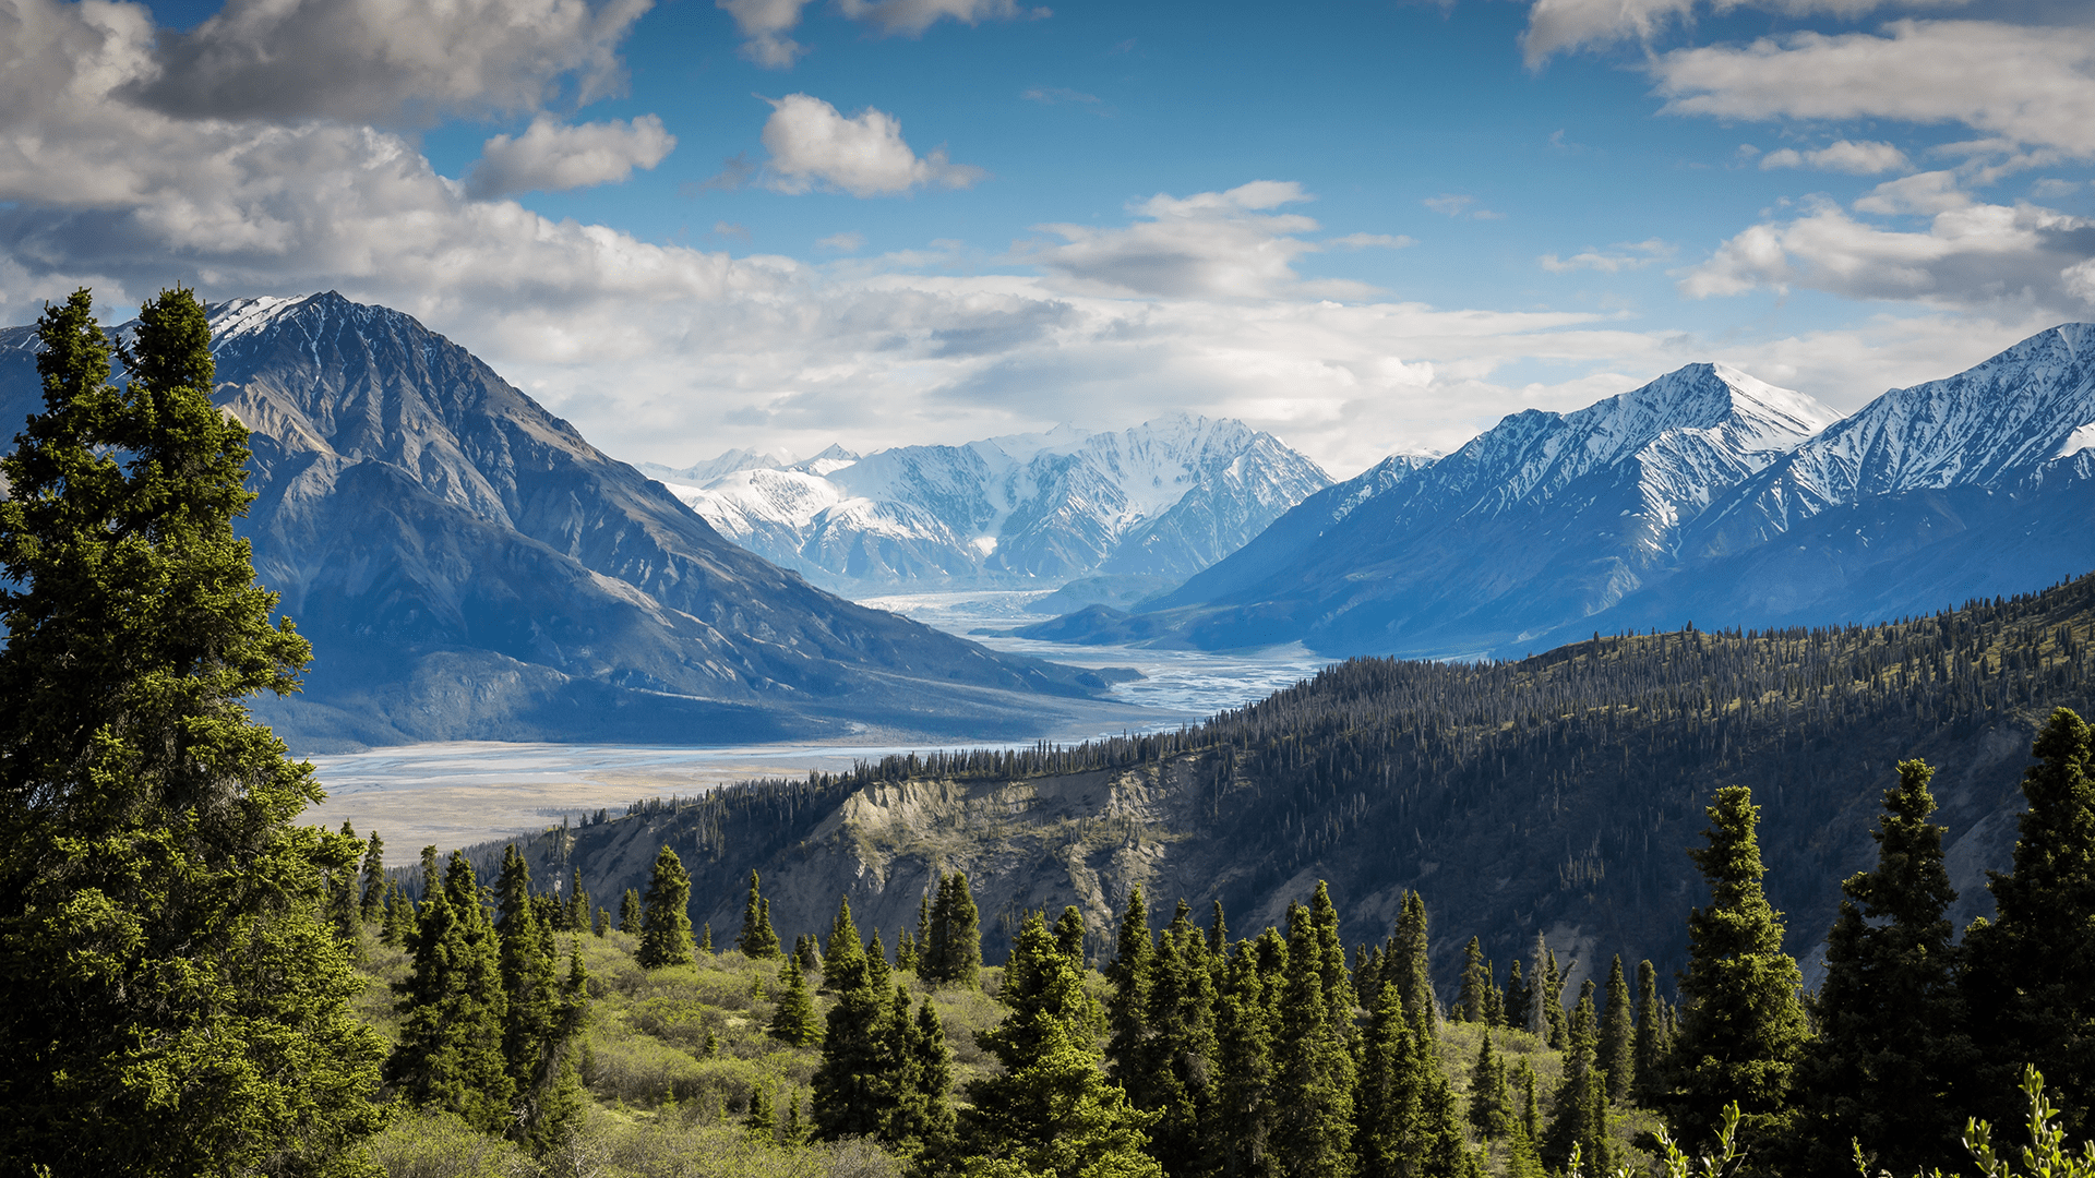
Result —
M721 539L465 348L339 293L210 308L256 572L314 643L302 748L1039 729L1104 679L832 597ZM0 413L40 409L0 333Z

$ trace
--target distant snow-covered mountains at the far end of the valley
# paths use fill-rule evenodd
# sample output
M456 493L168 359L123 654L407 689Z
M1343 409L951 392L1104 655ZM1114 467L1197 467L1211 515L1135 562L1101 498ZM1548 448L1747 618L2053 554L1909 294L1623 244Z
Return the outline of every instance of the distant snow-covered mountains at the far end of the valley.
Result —
M1272 434L1186 415L662 478L731 541L859 593L1182 581L1330 482Z

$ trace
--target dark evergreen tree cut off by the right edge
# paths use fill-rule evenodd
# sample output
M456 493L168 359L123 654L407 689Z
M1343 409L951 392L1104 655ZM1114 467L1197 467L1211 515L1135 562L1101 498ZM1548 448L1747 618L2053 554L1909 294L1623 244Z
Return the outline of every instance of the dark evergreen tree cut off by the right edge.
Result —
M1965 935L1984 1092L2011 1092L2024 1065L2045 1073L2061 1126L2089 1136L2095 1100L2095 734L2057 708L2022 773L2013 872L1992 874L1997 920ZM2009 1109L1984 1107L1994 1124Z

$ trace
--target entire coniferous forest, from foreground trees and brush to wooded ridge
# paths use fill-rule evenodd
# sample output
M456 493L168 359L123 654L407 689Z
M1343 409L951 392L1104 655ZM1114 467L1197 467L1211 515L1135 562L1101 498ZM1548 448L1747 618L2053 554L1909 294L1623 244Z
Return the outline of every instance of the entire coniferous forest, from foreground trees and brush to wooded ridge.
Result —
M239 704L310 652L233 535L201 306L147 304L122 388L86 291L40 327L46 413L0 465L6 1172L2095 1174L2066 1147L2095 1130L2095 734L2061 706L2091 581L1349 662L1179 734L388 866L297 826L318 784ZM1959 924L1932 763L1973 794L2015 725L2011 853ZM1789 794L1865 797L1867 853L1812 851L1842 807ZM1146 851L1186 841L1232 861L1200 895ZM1777 878L1837 899L1800 929Z

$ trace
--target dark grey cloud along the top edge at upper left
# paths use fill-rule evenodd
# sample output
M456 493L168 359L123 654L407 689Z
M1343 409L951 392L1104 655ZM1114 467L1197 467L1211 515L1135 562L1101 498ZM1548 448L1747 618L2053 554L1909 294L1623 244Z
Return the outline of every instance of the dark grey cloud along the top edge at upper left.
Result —
M193 31L159 31L130 78L180 117L425 124L530 111L566 80L589 103L624 82L616 54L652 0L228 0ZM38 19L48 0L23 0ZM88 17L92 21L94 17Z

